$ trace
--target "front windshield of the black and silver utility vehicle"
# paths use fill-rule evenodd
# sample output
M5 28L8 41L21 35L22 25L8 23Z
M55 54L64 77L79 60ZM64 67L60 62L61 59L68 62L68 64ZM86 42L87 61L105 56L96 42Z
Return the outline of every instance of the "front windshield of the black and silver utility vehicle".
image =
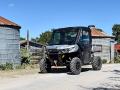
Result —
M76 41L77 32L77 30L55 30L53 31L49 45L74 44Z

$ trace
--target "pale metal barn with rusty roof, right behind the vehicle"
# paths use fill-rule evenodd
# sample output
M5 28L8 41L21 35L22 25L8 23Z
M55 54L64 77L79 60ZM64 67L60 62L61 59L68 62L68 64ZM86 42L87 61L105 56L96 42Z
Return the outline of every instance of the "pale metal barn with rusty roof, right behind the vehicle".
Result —
M107 35L101 29L92 28L92 45L96 56L111 62L114 60L115 37Z

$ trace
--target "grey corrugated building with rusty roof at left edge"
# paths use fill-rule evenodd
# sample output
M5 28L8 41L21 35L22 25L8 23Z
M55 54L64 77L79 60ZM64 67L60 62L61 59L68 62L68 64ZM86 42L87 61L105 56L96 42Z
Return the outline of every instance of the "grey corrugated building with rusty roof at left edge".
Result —
M20 28L0 16L0 64L20 64Z

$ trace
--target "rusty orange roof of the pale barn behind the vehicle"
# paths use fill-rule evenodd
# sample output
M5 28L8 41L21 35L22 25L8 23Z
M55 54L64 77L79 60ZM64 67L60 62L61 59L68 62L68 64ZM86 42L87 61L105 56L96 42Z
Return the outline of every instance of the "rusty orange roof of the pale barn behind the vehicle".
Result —
M91 34L93 37L108 37L108 38L114 38L114 36L107 35L105 32L100 31L96 28L91 29Z

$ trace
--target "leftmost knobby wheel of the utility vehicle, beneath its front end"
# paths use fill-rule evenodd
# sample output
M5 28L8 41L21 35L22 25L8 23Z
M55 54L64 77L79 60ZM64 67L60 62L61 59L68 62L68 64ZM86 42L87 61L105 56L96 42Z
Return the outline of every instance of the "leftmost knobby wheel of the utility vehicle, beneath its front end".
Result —
M51 71L51 63L48 60L41 59L39 65L41 73L47 73Z

